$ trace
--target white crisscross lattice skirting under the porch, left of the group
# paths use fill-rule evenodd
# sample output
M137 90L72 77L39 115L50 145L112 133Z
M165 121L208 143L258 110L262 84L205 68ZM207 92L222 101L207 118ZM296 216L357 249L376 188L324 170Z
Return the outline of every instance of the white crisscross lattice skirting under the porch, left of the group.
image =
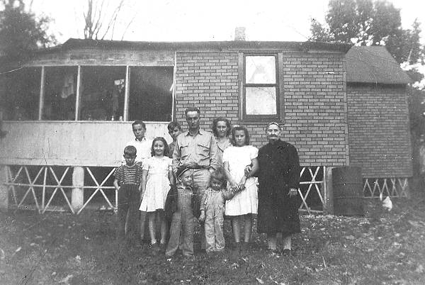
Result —
M99 171L101 169L101 171ZM84 167L84 204L78 211L72 207L73 167L10 166L5 185L11 194L11 208L81 213L91 204L116 210L117 196L112 184L114 167ZM59 194L58 194L59 193ZM87 195L88 194L88 195ZM59 196L59 197L58 197Z

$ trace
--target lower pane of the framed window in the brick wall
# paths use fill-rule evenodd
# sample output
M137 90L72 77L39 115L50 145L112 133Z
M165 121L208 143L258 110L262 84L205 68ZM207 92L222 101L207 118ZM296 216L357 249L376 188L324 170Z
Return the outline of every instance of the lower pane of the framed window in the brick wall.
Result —
M246 87L246 115L276 115L276 87Z

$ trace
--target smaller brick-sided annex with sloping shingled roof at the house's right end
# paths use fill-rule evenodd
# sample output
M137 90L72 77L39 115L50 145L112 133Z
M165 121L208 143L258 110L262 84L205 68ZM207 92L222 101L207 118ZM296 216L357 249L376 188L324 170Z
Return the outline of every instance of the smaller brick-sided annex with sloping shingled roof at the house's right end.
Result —
M401 194L413 175L406 91L412 79L382 46L351 47L346 72L350 165L362 167L366 195Z

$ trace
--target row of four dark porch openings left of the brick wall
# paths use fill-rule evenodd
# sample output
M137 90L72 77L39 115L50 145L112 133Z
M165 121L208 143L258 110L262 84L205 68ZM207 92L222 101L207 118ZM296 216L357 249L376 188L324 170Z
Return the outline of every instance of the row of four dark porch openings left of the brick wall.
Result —
M0 111L13 121L75 121L77 110L78 121L171 121L173 82L173 66L26 67L0 76Z

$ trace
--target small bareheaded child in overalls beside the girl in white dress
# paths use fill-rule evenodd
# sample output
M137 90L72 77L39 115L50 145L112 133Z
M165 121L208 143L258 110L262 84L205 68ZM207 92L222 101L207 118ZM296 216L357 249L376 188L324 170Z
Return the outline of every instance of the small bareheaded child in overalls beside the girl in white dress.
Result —
M222 252L225 249L223 222L225 201L232 199L234 192L226 190L226 176L222 169L217 169L210 176L210 187L205 190L200 202L199 221L205 223L205 251Z

